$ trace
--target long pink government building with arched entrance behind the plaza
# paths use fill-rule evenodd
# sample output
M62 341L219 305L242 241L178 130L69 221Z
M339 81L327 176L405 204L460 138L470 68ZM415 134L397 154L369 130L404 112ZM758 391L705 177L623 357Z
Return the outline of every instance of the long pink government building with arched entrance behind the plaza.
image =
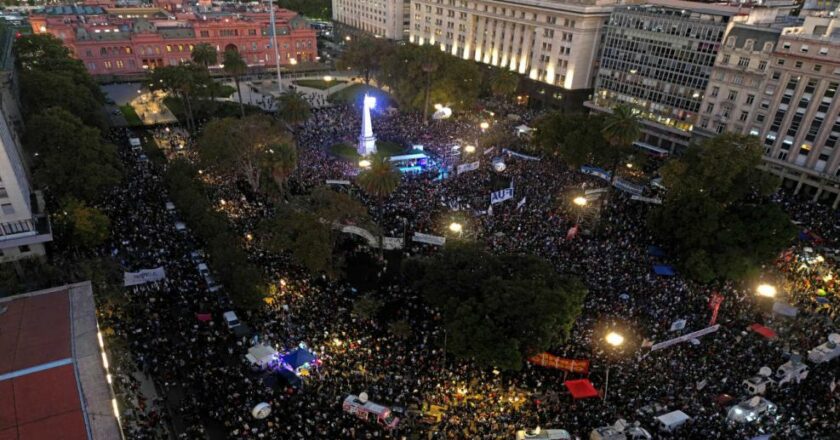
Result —
M110 3L108 3L110 1ZM315 30L303 17L275 10L280 64L315 61ZM154 0L153 7L115 7L113 0L49 6L33 12L34 33L64 41L93 75L128 75L190 60L199 43L222 53L235 49L250 67L274 67L269 10L264 5L213 6Z

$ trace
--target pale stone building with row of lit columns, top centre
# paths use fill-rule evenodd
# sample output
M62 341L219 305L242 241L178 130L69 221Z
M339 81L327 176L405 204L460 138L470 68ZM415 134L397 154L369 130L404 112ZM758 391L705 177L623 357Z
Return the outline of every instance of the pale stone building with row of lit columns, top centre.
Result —
M412 0L410 41L567 90L592 88L620 0Z

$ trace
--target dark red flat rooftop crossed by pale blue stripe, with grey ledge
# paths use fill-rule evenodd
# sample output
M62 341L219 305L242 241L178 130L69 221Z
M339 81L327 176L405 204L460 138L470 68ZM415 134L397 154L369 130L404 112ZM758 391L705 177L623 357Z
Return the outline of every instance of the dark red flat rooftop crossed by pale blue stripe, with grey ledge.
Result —
M89 282L0 299L0 438L120 438L97 334Z

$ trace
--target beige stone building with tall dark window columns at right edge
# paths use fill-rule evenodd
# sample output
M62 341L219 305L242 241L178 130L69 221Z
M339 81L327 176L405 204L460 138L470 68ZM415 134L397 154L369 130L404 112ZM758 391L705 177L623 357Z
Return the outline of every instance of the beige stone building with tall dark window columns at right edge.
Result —
M763 142L768 171L796 192L835 207L840 205L838 87L840 18L806 17L801 26L782 30L758 107L744 126Z

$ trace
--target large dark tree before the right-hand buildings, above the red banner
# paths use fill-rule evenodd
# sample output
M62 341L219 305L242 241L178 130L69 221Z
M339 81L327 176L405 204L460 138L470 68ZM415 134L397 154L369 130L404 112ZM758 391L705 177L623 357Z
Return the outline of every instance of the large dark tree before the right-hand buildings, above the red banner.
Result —
M692 278L755 275L793 238L788 216L767 199L778 180L757 168L761 154L757 138L723 134L662 168L668 189L650 229Z

